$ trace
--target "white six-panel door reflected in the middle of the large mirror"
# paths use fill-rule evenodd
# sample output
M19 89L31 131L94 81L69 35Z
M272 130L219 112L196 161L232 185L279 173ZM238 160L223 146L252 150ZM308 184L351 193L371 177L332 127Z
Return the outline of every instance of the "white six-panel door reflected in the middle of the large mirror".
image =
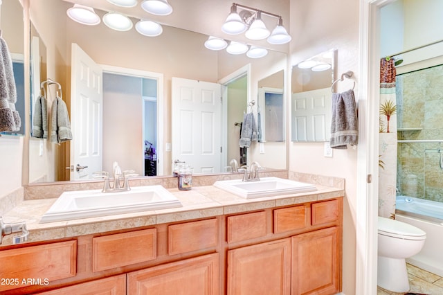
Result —
M221 171L220 84L172 78L172 138L172 161Z

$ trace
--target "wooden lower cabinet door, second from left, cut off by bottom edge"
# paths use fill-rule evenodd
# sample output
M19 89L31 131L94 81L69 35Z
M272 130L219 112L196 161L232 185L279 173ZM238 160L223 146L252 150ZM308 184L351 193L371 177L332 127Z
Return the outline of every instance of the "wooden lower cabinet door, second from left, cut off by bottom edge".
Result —
M219 294L219 254L213 253L127 274L131 295Z

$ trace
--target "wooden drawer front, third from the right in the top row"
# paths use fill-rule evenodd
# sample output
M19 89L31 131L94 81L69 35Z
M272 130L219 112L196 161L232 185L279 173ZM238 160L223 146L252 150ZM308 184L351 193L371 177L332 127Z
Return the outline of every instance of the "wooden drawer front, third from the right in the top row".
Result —
M260 238L266 235L266 212L228 217L228 243Z

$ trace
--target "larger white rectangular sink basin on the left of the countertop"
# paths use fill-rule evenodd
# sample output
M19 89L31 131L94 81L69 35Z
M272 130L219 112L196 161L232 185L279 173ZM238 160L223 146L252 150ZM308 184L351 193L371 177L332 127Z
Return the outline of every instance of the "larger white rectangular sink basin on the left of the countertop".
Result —
M135 186L129 191L112 193L78 190L62 193L40 223L181 206L179 199L163 186Z

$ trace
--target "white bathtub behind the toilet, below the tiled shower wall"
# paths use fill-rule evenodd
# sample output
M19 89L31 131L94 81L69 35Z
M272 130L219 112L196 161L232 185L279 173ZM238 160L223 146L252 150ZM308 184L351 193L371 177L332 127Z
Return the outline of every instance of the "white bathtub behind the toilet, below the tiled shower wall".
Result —
M443 203L397 196L395 219L426 231L422 251L406 261L443 276Z

